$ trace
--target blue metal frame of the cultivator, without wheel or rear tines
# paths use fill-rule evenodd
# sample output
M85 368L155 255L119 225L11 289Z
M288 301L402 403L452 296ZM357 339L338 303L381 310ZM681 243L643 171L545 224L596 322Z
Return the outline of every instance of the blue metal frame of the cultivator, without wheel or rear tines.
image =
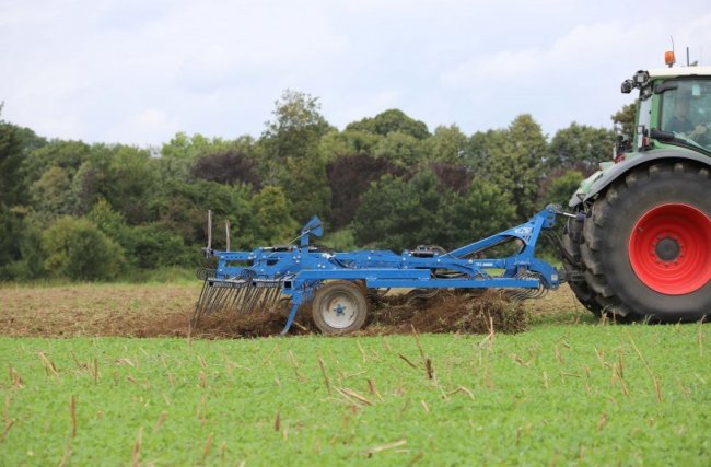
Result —
M308 302L325 281L360 281L369 289L558 289L558 270L535 257L536 243L543 230L556 224L558 207L551 205L528 222L497 233L452 252L417 250L396 254L391 250L325 252L310 246L311 236L322 236L318 218L304 225L299 245L260 247L253 252L209 249L218 258L211 287L231 283L254 288L281 288L291 299L285 334L294 322L299 306ZM480 258L496 245L514 241L516 254L503 258ZM242 285L241 285L242 287Z

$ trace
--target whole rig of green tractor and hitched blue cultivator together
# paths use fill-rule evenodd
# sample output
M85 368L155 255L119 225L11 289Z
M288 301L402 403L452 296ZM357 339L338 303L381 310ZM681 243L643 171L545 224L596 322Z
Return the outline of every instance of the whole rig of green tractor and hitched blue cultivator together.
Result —
M622 92L639 90L631 141L618 138L614 160L601 164L572 196L570 209L550 205L527 222L446 252L338 253L312 243L318 218L288 245L230 252L211 247L208 215L202 292L191 319L220 311L282 307L289 331L300 307L329 335L366 322L369 296L391 289L432 296L442 289L501 289L513 300L543 296L568 282L583 305L615 320L698 320L711 315L711 67L638 71ZM571 212L572 211L572 212ZM556 236L558 218L566 220ZM536 255L552 240L562 269ZM503 254L497 247L514 245ZM409 291L409 292L408 292Z

